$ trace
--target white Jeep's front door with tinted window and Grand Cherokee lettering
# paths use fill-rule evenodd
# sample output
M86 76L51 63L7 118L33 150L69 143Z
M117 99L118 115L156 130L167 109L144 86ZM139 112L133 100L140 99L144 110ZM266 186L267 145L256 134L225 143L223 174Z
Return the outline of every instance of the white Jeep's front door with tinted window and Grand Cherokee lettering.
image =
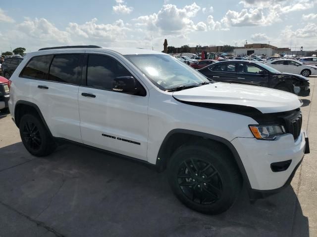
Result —
M108 54L87 55L87 82L78 93L83 142L146 160L149 94L113 91L114 78L124 76L135 77L119 59Z

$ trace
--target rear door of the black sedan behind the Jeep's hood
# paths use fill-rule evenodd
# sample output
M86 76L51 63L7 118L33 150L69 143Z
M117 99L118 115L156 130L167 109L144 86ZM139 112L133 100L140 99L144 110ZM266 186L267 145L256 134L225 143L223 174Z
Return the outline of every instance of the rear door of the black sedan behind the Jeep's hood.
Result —
M215 63L204 69L203 73L215 81L233 82L236 79L236 63Z

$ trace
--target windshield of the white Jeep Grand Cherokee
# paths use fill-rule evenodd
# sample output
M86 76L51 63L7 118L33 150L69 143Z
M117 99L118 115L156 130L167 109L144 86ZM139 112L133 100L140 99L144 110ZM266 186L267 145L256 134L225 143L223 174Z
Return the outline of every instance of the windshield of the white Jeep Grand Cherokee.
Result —
M161 90L180 86L198 86L210 82L185 63L164 54L125 55L125 57Z

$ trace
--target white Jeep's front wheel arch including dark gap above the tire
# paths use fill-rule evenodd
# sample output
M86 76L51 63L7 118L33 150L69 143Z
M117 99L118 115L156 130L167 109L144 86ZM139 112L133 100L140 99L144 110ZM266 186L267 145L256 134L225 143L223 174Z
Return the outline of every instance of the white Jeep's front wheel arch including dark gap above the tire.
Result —
M171 130L164 138L161 146L159 148L159 153L157 157L156 165L158 170L161 172L166 169L169 158L171 157L173 151L175 151L179 146L184 144L185 142L200 142L201 139L208 139L211 142L216 142L221 144L224 148L227 148L233 157L233 161L236 163L239 171L242 175L243 181L246 183L247 187L251 189L251 184L247 175L247 172L244 168L242 160L232 145L232 143L225 138L212 135L209 133L198 132L187 129L173 129Z

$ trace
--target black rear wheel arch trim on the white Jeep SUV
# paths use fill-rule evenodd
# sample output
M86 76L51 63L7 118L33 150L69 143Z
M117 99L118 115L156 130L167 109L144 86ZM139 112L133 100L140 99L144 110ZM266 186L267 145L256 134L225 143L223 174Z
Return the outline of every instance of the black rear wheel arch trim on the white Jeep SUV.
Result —
M48 130L50 136L53 137L51 130L48 127L48 125L47 125L47 123L42 115L40 108L36 104L29 102L29 101L19 100L15 104L14 121L15 121L15 124L17 127L19 127L20 119L22 118L22 116L27 114L27 113L37 115L41 119L41 121L43 122L45 128Z

